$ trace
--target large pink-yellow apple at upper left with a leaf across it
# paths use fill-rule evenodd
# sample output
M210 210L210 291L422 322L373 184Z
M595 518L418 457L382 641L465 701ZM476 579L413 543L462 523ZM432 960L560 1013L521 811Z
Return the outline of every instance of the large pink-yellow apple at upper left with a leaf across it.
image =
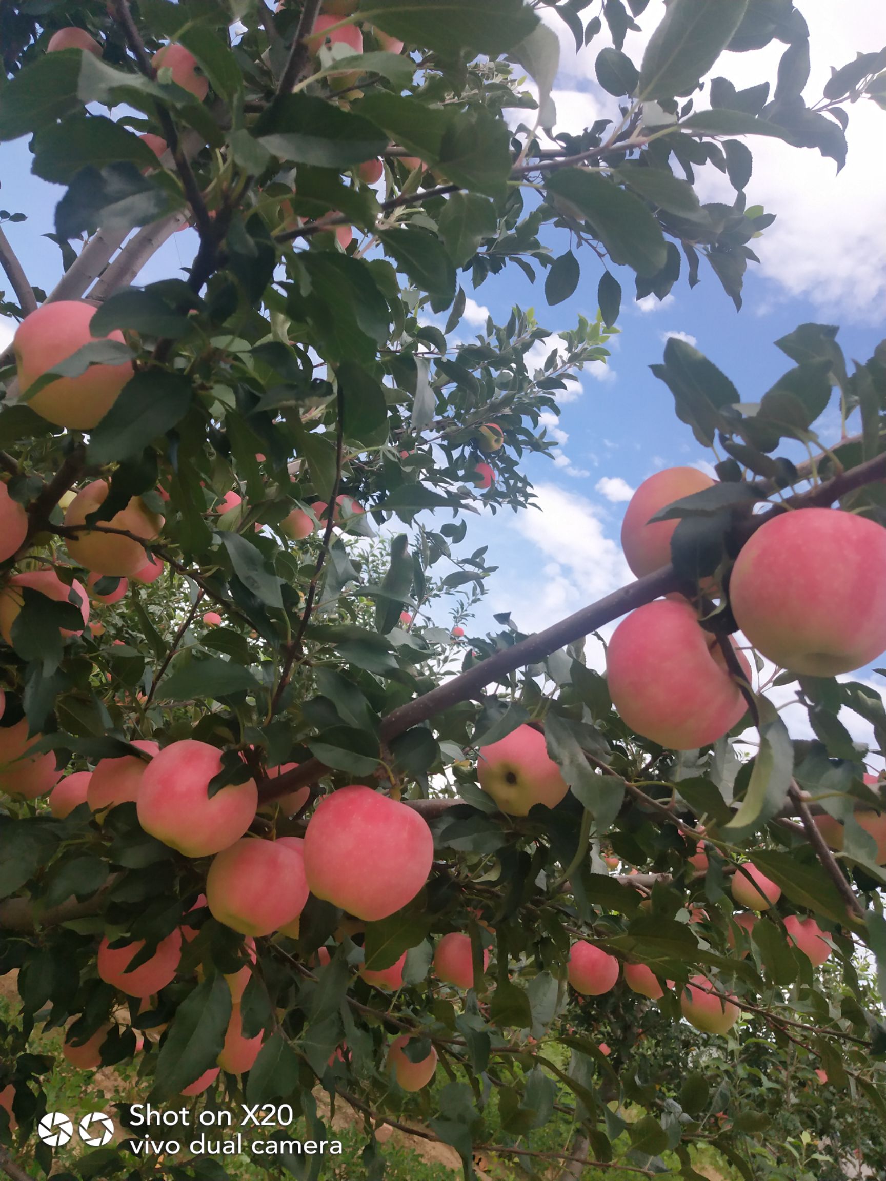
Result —
M13 339L22 393L47 370L95 341L90 333L95 314L91 304L58 300L43 304L25 317ZM106 339L124 344L122 332L112 332ZM79 377L56 378L35 393L28 405L56 426L87 431L104 418L131 377L132 361L90 365Z

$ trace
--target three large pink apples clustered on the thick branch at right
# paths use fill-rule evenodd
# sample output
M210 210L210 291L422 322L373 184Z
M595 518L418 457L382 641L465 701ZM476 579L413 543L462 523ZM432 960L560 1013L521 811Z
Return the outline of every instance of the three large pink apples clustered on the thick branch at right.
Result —
M671 560L677 522L651 518L714 483L695 468L671 468L640 484L621 527L638 578ZM860 668L886 650L886 529L836 509L771 516L735 561L729 602L748 641L782 668L810 677ZM737 654L750 683L750 665ZM716 742L744 715L715 637L680 595L627 615L612 635L606 668L624 720L669 749Z

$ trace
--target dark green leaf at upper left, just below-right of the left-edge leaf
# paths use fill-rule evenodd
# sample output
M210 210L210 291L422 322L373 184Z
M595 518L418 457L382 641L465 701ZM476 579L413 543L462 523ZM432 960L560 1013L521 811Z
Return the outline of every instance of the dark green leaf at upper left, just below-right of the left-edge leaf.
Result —
M44 181L67 184L86 164L102 168L123 159L139 169L157 167L156 155L138 136L122 123L92 115L44 128L34 139L31 170Z

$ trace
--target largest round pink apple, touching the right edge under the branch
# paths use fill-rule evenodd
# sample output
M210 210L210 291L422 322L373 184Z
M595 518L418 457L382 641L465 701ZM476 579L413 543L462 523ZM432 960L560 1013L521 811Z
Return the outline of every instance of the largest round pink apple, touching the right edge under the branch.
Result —
M886 529L838 509L771 517L732 567L736 622L764 657L809 677L886 650Z

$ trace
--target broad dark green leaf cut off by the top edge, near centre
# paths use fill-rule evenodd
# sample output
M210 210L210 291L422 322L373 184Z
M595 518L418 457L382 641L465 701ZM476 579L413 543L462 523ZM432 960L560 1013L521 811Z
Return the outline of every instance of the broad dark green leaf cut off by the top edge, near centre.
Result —
M391 37L448 57L467 48L497 56L539 24L522 0L363 0L360 9Z

